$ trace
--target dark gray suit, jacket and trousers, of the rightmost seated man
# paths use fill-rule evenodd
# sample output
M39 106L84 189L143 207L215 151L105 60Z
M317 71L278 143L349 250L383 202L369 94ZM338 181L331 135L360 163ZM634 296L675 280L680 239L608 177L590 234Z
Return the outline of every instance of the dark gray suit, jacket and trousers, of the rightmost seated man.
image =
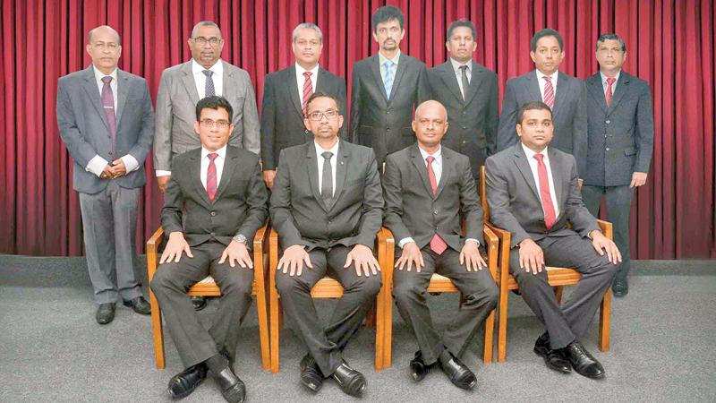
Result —
M606 253L597 254L587 237L599 226L582 202L574 157L552 147L548 147L547 155L559 210L550 229L545 227L538 185L522 143L488 158L485 176L490 222L512 234L509 270L524 301L547 328L551 347L561 348L584 336L616 266ZM579 284L561 307L547 282L546 270L535 275L520 269L517 244L526 238L540 245L547 266L575 267L582 273Z

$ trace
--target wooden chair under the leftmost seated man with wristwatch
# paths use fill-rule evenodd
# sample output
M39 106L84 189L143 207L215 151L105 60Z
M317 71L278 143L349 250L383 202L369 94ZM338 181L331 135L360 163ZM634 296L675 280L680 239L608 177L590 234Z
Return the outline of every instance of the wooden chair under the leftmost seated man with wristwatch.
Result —
M253 285L251 295L256 296L256 306L259 313L259 335L261 345L261 364L268 369L268 310L266 307L266 269L268 260L264 258L266 250L266 236L268 225L259 228L253 238ZM154 277L158 265L158 246L164 240L164 229L159 227L147 242L147 271L149 282ZM187 296L221 296L221 290L211 276L202 279L189 289ZM157 297L149 289L149 304L151 304L151 327L154 337L154 358L158 369L164 369L164 331L162 330L162 315Z

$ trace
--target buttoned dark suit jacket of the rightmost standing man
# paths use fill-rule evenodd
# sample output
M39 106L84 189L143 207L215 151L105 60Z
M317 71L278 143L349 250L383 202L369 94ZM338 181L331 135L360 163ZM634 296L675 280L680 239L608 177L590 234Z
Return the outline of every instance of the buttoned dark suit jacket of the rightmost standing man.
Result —
M649 84L622 71L609 107L600 73L588 78L586 87L589 148L584 184L630 184L634 172L649 172L652 160L654 118Z

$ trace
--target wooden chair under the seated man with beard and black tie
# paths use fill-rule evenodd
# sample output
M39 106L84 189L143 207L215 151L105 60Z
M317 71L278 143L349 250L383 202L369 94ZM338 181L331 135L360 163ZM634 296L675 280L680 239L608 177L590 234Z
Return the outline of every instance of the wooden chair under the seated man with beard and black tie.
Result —
M378 263L382 272L383 284L380 287L378 296L376 297L376 303L372 308L371 313L366 317L366 325L368 327L375 326L375 369L380 371L387 367L383 361L383 343L385 340L385 301L386 290L390 289L389 274L390 270L386 268L392 267L392 263L388 263L388 251L392 262L392 251L393 251L393 240L390 235L390 231L385 228L381 228L378 236L376 236L376 244L378 251ZM390 247L388 247L388 244ZM276 289L276 268L278 266L278 233L276 230L271 229L271 233L268 236L268 309L269 309L269 321L270 321L270 338L271 338L271 372L277 373L279 369L279 330L283 327L283 310L281 309L281 300L278 296ZM320 279L313 289L311 289L311 296L314 298L340 298L343 296L343 287L335 279L331 279L328 276Z

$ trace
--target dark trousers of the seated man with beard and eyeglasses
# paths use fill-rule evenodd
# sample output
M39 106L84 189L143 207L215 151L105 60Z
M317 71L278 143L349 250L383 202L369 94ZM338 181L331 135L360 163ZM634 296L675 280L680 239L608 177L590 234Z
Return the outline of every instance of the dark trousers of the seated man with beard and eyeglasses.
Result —
M293 277L282 271L276 273L284 313L295 320L299 337L325 376L334 373L343 362L344 347L361 326L380 290L380 273L358 276L354 264L343 268L349 252L343 245L313 249L309 253L313 269L304 266L301 276ZM313 304L311 288L326 275L341 284L343 296L324 328Z

